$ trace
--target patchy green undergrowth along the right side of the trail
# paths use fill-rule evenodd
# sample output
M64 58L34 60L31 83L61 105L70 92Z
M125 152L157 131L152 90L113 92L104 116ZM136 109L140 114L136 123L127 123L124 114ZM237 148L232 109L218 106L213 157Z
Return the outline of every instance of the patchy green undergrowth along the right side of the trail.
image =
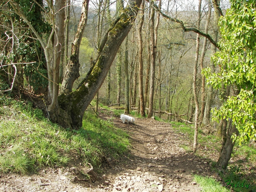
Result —
M193 125L187 125L180 122L170 122L172 125L172 129L176 134L184 133L185 137L187 139L184 140L184 142L187 140L189 144L181 144L180 147L184 148L187 153L192 153L193 151L193 137L194 137L194 127ZM212 156L215 156L215 158L218 158L219 150L221 147L221 138L215 133L205 133L202 131L202 128L199 128L198 131L198 138L197 138L197 144L201 147L197 148L196 155L200 158L209 158L212 164L212 171L217 173L224 182L223 186L230 190L231 185L234 184L234 187L232 189L236 192L247 192L247 191L254 191L256 192L256 148L251 146L248 146L248 143L243 144L242 146L239 146L238 144L235 144L233 148L233 153L231 154L231 160L229 161L229 165L227 166L226 170L220 170L218 167L216 167L216 161L212 158ZM205 178L205 177L199 177L196 178L200 182L203 182L206 186L212 187L211 185L215 185L214 181L212 181L212 178ZM230 180L230 184L229 184ZM199 182L197 181L197 182ZM227 182L225 182L227 181ZM244 182L245 181L245 182ZM249 188L246 189L246 187L239 187L244 182L244 185L250 184ZM213 183L213 184L210 184ZM228 185L229 184L229 185ZM236 187L237 184L237 187ZM218 184L219 185L219 184ZM217 185L217 186L218 186ZM214 187L215 188L215 187ZM212 189L204 188L203 189L206 192L211 192ZM216 192L219 190L224 189L214 189Z

